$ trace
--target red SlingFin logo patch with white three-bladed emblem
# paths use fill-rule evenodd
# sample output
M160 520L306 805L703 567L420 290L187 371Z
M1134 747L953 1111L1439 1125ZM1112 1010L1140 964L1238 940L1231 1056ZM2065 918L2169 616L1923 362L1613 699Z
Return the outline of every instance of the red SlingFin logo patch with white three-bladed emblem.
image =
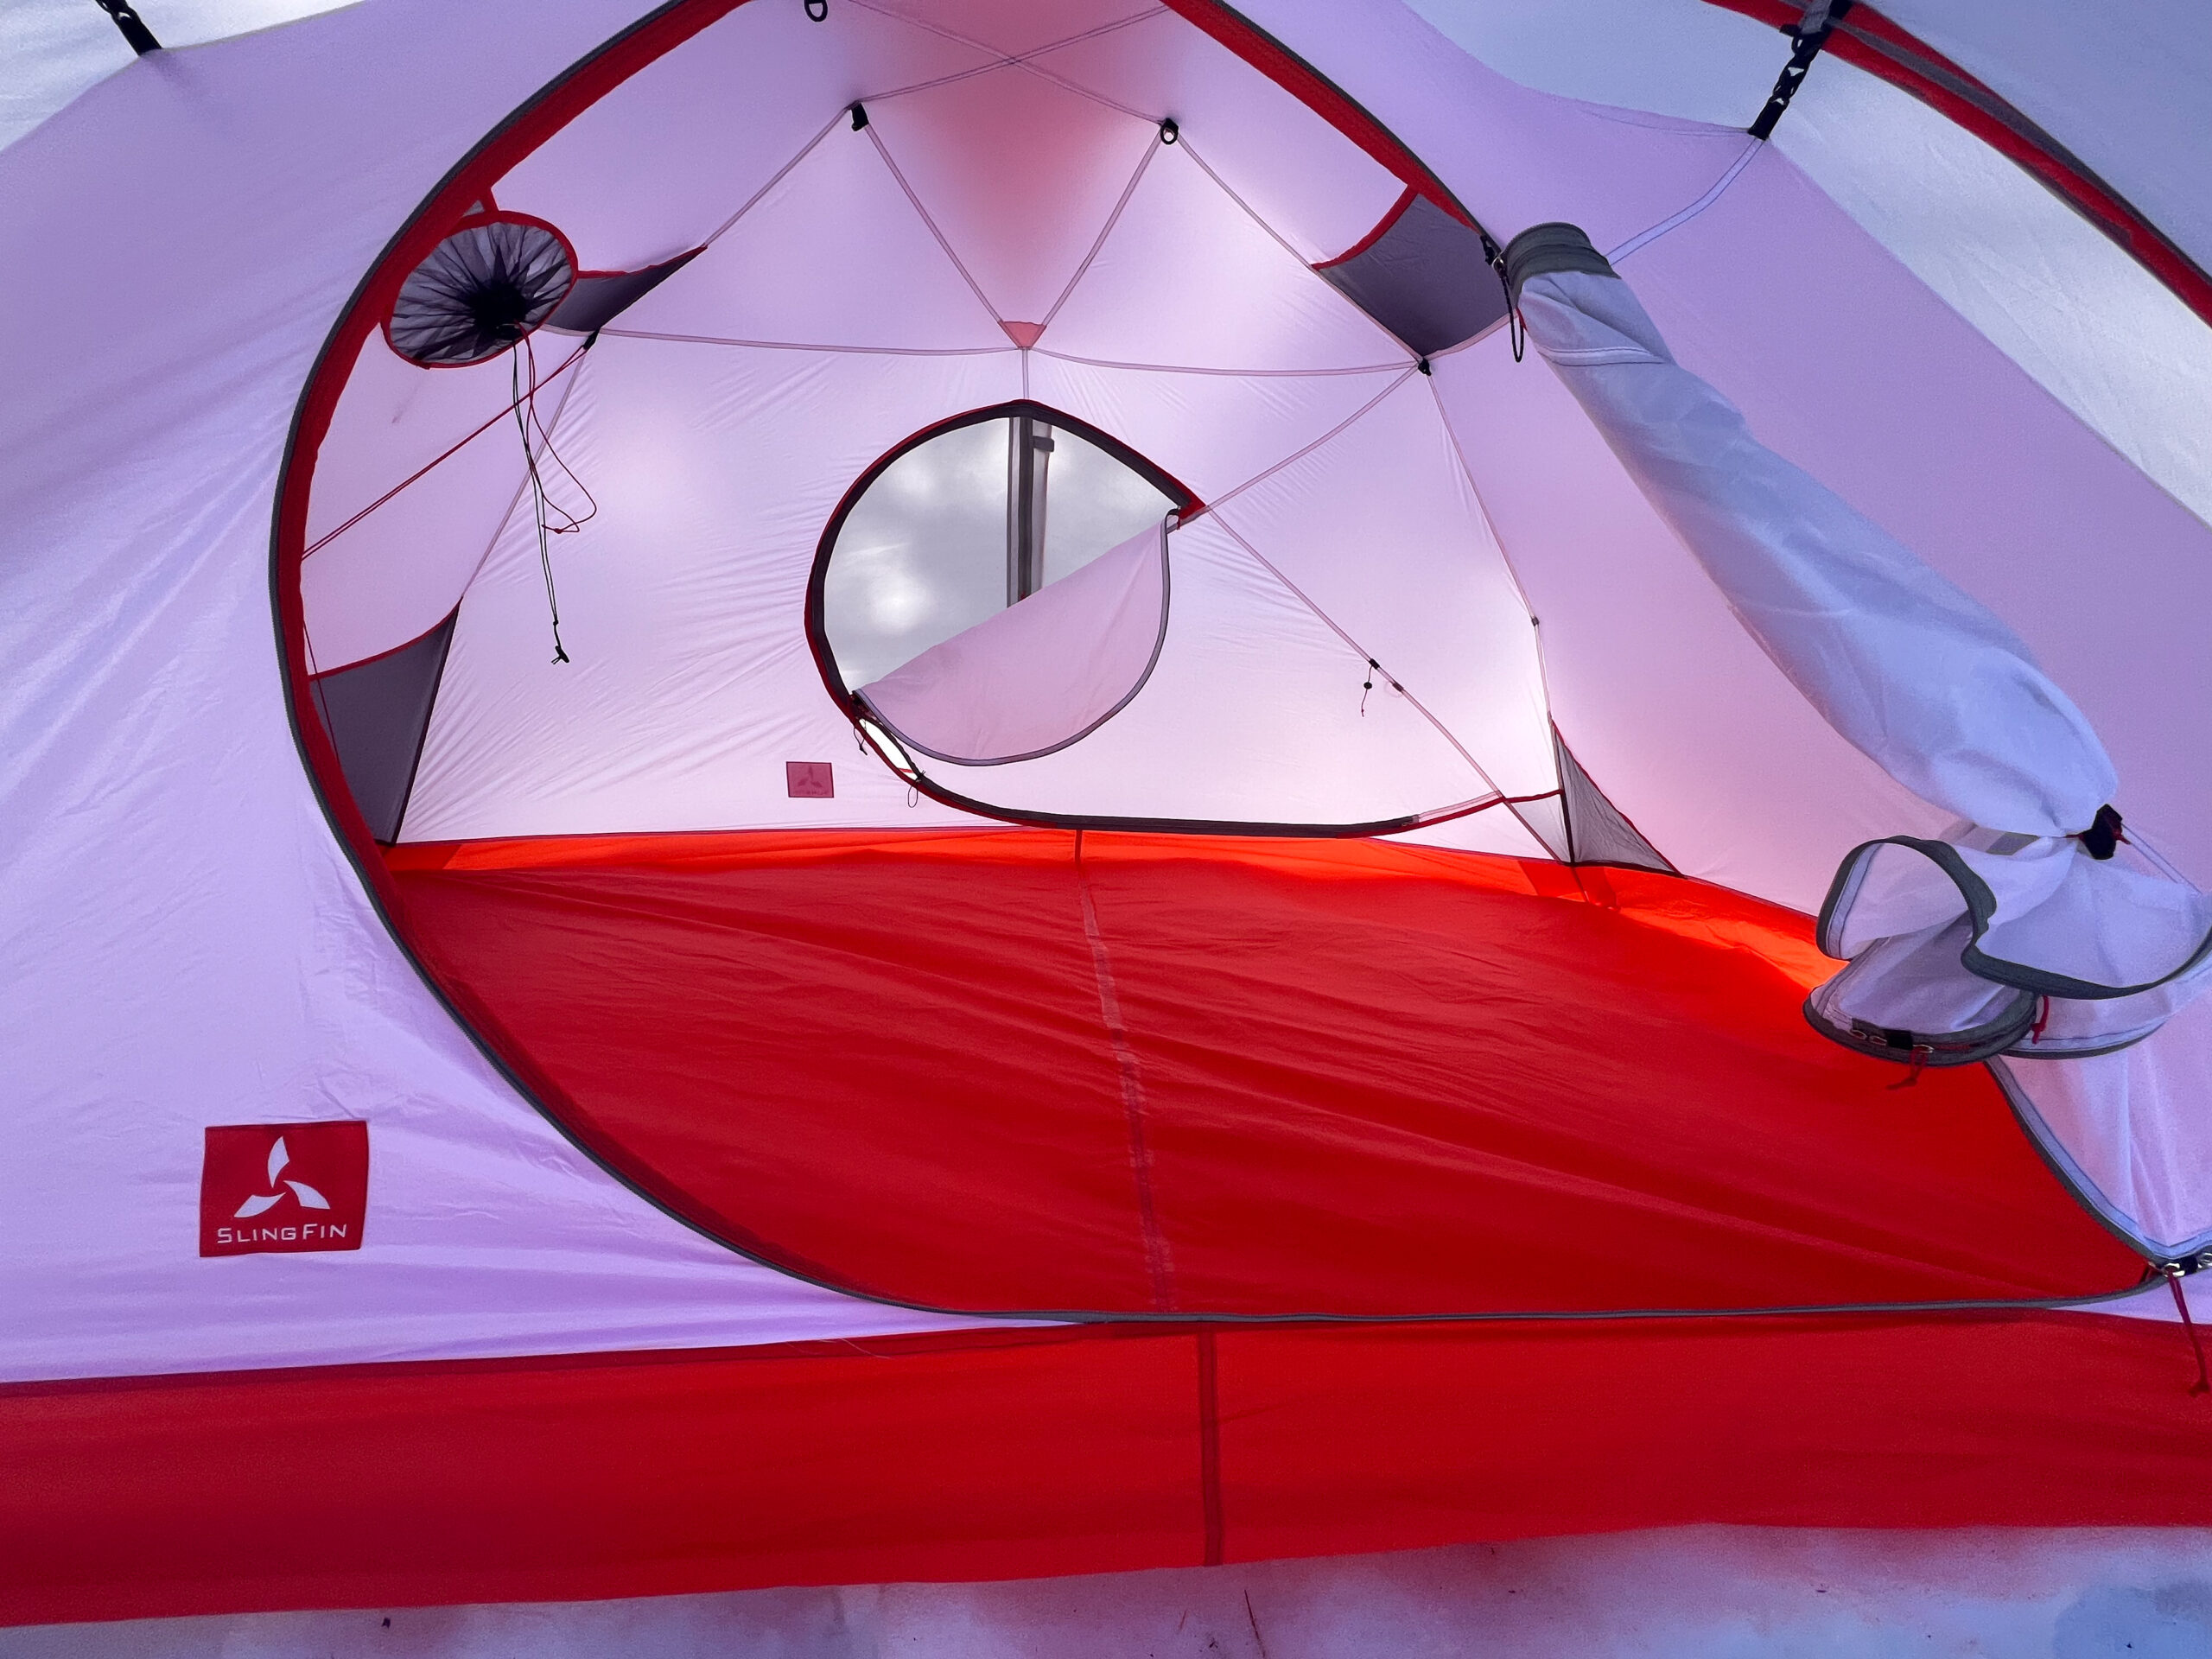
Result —
M361 1250L369 1126L234 1124L208 1130L199 1166L199 1254Z

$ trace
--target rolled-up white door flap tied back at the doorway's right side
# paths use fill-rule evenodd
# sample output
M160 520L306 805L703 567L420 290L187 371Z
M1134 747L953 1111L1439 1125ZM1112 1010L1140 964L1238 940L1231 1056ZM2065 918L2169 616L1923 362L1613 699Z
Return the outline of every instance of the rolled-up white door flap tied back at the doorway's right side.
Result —
M2070 825L2088 830L2117 783L2081 712L1995 617L1761 449L1736 411L1670 358L1628 285L1577 243L1566 226L1544 226L1506 250L1528 338L1805 699L1885 772L1964 816L1969 832L1947 836L1947 856L1982 902L1993 898L1969 927L1962 887L1922 856L1942 847L1858 849L1820 916L1823 949L1851 967L1809 1011L1838 1037L1867 1031L1902 1044L1878 1033L1924 1031L1916 1064L1947 1040L1953 1055L2004 1046L2066 1060L2152 1035L2201 989L2212 900L2132 847L2093 856L2077 845ZM1522 270L1535 274L1522 283ZM1991 841L1975 825L2004 834ZM2115 852L2128 860L2115 863ZM2000 960L1969 971L1969 945ZM2084 980L2079 993L2059 989L2059 962ZM2042 1000L2020 989L2037 980ZM2101 995L2130 984L2148 989ZM2033 1073L2066 1104L2079 1099L2070 1066ZM2028 1102L2044 1093L2026 1075L2006 1079ZM2141 1130L2161 1152L2190 1099L2170 1091L2141 1102ZM2042 1130L2079 1172L2066 1135L2048 1119ZM2148 1217L2115 1208L2104 1186L2086 1190L2146 1250L2174 1256L2194 1254L2212 1214L2188 1212L2183 1241L2170 1241L2168 1183L2143 1194Z

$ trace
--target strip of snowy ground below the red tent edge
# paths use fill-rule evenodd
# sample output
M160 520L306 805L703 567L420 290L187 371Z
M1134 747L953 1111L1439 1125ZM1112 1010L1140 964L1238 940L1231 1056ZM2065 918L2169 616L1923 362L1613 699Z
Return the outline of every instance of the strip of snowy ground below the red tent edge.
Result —
M2212 1531L1690 1526L1018 1584L0 1630L0 1659L2203 1659Z

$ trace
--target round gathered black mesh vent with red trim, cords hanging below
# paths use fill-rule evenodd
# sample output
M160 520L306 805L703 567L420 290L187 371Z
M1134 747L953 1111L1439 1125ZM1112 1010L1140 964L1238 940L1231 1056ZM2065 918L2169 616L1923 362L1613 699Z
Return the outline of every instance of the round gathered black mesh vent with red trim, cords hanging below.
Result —
M482 363L544 323L573 285L575 259L557 230L478 219L409 272L385 334L409 363Z

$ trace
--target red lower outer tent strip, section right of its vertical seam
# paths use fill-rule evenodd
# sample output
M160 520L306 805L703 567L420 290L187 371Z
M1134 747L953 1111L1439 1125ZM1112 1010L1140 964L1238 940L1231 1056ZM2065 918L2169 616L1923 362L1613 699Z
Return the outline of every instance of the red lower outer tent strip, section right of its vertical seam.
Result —
M1745 1526L2201 1526L2183 1332L2099 1314L1223 1336L1239 1557Z

